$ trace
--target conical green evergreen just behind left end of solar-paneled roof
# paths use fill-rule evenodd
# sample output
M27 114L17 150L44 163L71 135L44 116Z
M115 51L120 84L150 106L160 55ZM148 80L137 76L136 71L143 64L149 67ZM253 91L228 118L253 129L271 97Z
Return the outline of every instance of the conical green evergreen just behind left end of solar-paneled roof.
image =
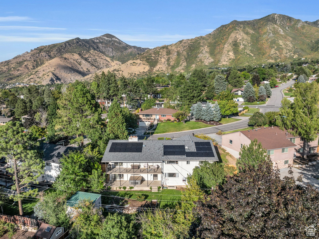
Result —
M108 111L107 133L110 139L127 139L129 137L122 109L117 102L113 102Z

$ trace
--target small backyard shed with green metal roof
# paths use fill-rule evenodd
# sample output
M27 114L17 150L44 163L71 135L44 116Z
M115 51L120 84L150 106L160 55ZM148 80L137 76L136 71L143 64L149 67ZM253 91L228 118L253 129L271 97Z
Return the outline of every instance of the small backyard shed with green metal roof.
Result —
M78 191L66 201L66 205L68 207L67 213L69 214L72 212L73 209L83 200L91 201L96 208L100 208L102 204L101 194Z

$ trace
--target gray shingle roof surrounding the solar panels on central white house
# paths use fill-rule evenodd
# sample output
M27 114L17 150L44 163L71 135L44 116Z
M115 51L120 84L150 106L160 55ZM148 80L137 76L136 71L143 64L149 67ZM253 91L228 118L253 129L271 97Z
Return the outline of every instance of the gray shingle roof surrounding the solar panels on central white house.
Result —
M127 143L128 140L110 140L104 152L102 162L162 162L165 160L187 161L218 161L218 157L211 140L203 140L191 135L186 135L173 140L138 140L143 143L142 153L110 153L112 143ZM210 142L214 157L186 157L185 155L164 155L164 145L188 146L186 152L195 152L195 142Z

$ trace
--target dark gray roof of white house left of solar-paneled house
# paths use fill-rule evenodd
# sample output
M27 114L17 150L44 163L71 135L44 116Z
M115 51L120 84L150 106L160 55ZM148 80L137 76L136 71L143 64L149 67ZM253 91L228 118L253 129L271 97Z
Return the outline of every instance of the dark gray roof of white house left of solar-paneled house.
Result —
M51 163L60 163L60 159L63 154L67 154L69 151L74 150L71 147L42 143L40 150L43 150L43 161Z

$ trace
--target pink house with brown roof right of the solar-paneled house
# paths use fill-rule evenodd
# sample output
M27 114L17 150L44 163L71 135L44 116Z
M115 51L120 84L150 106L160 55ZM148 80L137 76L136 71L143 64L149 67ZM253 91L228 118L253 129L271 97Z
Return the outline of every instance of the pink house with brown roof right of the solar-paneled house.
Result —
M235 158L243 145L257 139L270 155L274 167L288 168L296 157L304 157L317 152L318 137L309 143L303 138L295 137L278 127L263 127L254 130L238 131L222 135L222 147Z

